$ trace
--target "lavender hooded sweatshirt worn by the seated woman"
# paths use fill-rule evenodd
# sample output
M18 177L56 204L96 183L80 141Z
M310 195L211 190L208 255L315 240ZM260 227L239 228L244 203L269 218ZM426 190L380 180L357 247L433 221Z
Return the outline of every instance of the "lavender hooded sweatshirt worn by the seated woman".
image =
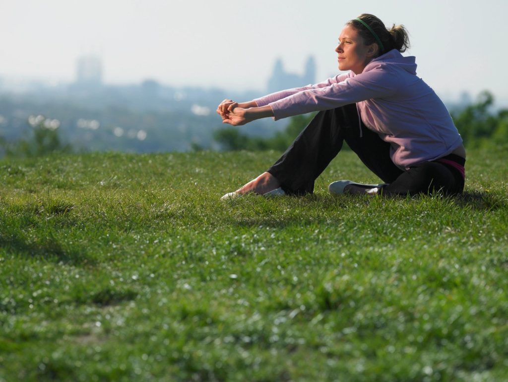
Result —
M414 56L393 49L360 74L350 71L254 101L270 105L275 120L356 102L365 126L391 144L393 163L407 169L446 156L462 143L447 108L416 75L416 67Z

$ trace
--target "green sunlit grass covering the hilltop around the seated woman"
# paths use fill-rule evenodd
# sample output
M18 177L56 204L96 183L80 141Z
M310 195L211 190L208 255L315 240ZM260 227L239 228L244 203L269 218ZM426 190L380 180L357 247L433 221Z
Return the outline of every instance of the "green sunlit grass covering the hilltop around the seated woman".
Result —
M0 162L0 381L505 381L505 151L466 193L228 202L265 153Z

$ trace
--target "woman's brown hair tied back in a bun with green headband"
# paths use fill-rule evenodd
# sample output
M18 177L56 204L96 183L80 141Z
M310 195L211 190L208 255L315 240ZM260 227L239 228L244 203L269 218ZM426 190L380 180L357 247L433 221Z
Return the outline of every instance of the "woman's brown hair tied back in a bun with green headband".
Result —
M374 15L370 15L368 13L362 13L358 16L360 20L365 22L377 35L383 47L379 46L379 55L384 54L392 49L397 49L399 52L404 52L407 48L409 48L409 34L407 33L404 25L395 25L390 29L387 29L383 21L379 20ZM365 45L370 45L373 43L377 43L376 38L372 35L372 33L358 20L350 20L346 23L346 25L353 26L360 36L363 38Z

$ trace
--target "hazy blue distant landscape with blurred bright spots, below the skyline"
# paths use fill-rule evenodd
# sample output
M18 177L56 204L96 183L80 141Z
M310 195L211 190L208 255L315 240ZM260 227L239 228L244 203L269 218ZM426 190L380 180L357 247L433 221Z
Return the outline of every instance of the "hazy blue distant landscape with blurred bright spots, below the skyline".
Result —
M223 125L214 110L219 100L226 97L222 91L165 86L157 89L151 81L146 82L142 86L103 86L88 93L70 88L19 95L0 91L0 140L4 138L12 144L29 139L33 129L29 125L33 124L27 121L30 116L40 115L58 121L59 139L78 151L153 153L185 152L198 147L217 149L213 131ZM228 95L234 99L257 96ZM249 126L249 134L268 137L287 123L255 121Z

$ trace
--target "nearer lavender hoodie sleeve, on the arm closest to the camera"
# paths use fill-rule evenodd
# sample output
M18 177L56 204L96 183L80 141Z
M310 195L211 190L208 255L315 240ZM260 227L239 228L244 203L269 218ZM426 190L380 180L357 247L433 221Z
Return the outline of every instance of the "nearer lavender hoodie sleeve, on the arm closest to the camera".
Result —
M302 88L302 91L269 102L274 120L305 114L312 111L330 110L339 106L372 98L390 97L400 85L400 79L391 70L378 64L369 71L351 75L342 81L321 87Z

